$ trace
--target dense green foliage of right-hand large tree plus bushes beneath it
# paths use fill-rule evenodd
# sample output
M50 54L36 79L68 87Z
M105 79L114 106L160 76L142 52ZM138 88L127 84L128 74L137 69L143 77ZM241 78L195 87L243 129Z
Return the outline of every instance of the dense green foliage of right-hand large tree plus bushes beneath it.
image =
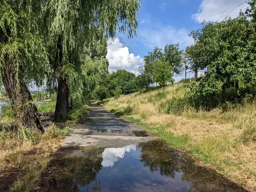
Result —
M235 19L203 23L203 29L191 33L195 44L186 49L190 69L197 73L207 67L206 76L189 86L187 97L195 108L210 109L255 95L256 1L249 4L251 8ZM235 94L225 95L229 89Z

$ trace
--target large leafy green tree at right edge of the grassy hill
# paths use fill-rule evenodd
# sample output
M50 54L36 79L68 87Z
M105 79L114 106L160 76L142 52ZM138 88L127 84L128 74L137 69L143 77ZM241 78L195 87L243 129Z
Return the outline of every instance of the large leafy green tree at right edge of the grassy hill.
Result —
M230 87L236 89L238 97L241 87L255 93L256 1L249 3L250 8L235 19L204 23L195 47L203 47L199 59L208 70L200 84L190 87L194 98L215 96Z

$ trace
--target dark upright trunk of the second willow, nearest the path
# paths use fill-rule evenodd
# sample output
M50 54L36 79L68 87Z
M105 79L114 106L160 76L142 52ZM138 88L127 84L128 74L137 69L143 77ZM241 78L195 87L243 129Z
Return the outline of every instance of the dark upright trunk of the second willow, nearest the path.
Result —
M57 51L55 55L54 70L55 77L58 79L58 93L57 93L57 102L55 107L55 121L63 120L69 112L68 104L68 81L64 77L61 69L63 67L62 63L63 58L63 47L62 47L62 38L61 35L58 37L57 42Z

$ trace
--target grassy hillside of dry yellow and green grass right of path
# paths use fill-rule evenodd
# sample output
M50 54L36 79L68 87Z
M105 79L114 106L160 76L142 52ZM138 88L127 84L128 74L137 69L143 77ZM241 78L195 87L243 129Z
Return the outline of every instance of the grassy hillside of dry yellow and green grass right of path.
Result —
M147 93L106 99L105 108L256 190L256 101L210 111L180 108L183 82Z

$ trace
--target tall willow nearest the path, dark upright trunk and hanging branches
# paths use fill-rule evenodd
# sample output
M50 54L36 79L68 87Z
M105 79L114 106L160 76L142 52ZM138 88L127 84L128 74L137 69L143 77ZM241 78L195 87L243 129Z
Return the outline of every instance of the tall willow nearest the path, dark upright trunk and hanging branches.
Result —
M48 0L44 4L46 35L55 49L52 67L58 80L55 119L63 119L69 112L70 72L78 71L88 37L114 38L116 32L137 31L136 15L140 0ZM79 57L76 56L79 55ZM69 66L69 67L67 67ZM81 88L81 87L80 87ZM72 96L71 96L72 97Z

